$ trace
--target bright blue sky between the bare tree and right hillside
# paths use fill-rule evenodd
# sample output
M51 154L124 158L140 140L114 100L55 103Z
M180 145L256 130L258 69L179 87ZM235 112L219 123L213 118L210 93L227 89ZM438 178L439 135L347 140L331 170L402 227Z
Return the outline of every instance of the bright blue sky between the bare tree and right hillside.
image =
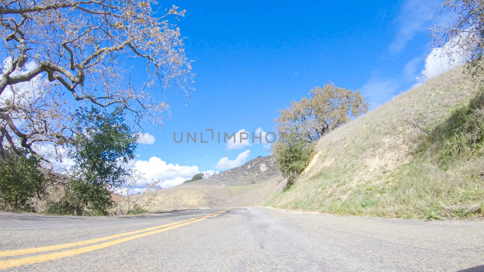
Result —
M268 155L263 144L175 143L173 133L272 131L278 109L328 80L362 91L374 109L423 81L429 28L443 20L433 18L438 3L177 0L187 10L178 25L195 60L196 91L186 106L167 92L173 113L164 127L144 127L155 140L139 145L137 168L180 181L198 170L224 170L216 165L226 156L235 160L245 151L239 163Z

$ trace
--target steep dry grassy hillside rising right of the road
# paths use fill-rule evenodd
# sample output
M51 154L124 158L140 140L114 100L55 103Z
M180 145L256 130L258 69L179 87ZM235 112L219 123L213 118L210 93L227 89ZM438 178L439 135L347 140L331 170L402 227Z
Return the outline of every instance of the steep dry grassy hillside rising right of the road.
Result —
M470 113L482 121L468 106L477 91L456 68L395 97L322 137L300 180L266 204L403 218L482 213L480 142L466 149L455 134Z

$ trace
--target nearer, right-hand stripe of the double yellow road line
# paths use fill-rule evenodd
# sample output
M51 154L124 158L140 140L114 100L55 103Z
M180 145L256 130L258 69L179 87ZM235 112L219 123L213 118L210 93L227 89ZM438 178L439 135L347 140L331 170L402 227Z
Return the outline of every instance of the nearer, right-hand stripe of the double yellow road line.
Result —
M192 224L192 223L195 223L195 222L199 222L199 221L202 221L202 220L209 218L211 216L215 216L215 215L220 214L222 212L226 212L227 210L228 209L222 210L220 212L215 212L215 213L212 213L212 214L209 214L209 215L206 215L206 216L202 216L199 219L188 221L188 222L185 222L185 223L181 223L181 224L178 224L178 225L175 225L175 226L165 227L165 228L162 228L162 229L157 229L157 230L153 230L153 231L150 231L150 232L145 232L145 233L129 236L129 237L121 238L121 239L118 239L118 240L113 240L113 241L109 241L109 242L94 244L94 245L90 245L90 246L85 246L85 247L81 247L81 248L76 248L76 249L71 249L71 250L66 250L66 251L61 251L61 252L56 252L56 253L50 253L50 254L44 254L44 255L39 255L39 256L24 257L24 258L17 258L17 259L0 261L0 269L7 269L7 268L15 267L15 266L45 262L45 261L49 261L49 260L54 260L54 259L59 259L59 258L64 258L64 257L70 257L70 256L79 255L79 254L82 254L82 253L91 252L91 251L98 250L98 249L101 249L101 248L105 248L105 247L108 247L108 246L112 246L112 245L115 245L115 244L127 242L127 241L134 240L134 239L137 239L137 238L141 238L141 237L144 237L144 236L160 233L160 232L163 232L163 231L166 231L166 230L170 230L170 229L174 229L174 228L177 228L177 227L182 227L182 226L185 226L185 225L188 225L188 224Z

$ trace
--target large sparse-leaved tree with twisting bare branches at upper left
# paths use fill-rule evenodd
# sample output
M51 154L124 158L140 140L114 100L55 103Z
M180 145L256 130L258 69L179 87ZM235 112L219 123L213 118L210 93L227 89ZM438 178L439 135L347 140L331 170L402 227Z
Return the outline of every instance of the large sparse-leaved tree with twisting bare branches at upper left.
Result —
M163 92L192 90L179 16L153 0L10 0L0 3L0 159L19 148L65 147L75 110L121 107L140 125L161 125ZM144 61L146 78L133 82ZM144 73L144 72L143 72ZM137 78L137 80L139 80ZM60 154L58 154L60 155Z

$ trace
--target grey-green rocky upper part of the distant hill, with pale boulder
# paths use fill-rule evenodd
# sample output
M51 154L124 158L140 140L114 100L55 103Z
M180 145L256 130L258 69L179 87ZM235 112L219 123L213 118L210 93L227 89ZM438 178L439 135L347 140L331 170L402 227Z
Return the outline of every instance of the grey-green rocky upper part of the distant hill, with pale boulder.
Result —
M190 184L240 186L268 181L279 175L281 172L269 155L252 159L242 166L220 172L207 179L192 181ZM184 185L186 183L180 186Z

